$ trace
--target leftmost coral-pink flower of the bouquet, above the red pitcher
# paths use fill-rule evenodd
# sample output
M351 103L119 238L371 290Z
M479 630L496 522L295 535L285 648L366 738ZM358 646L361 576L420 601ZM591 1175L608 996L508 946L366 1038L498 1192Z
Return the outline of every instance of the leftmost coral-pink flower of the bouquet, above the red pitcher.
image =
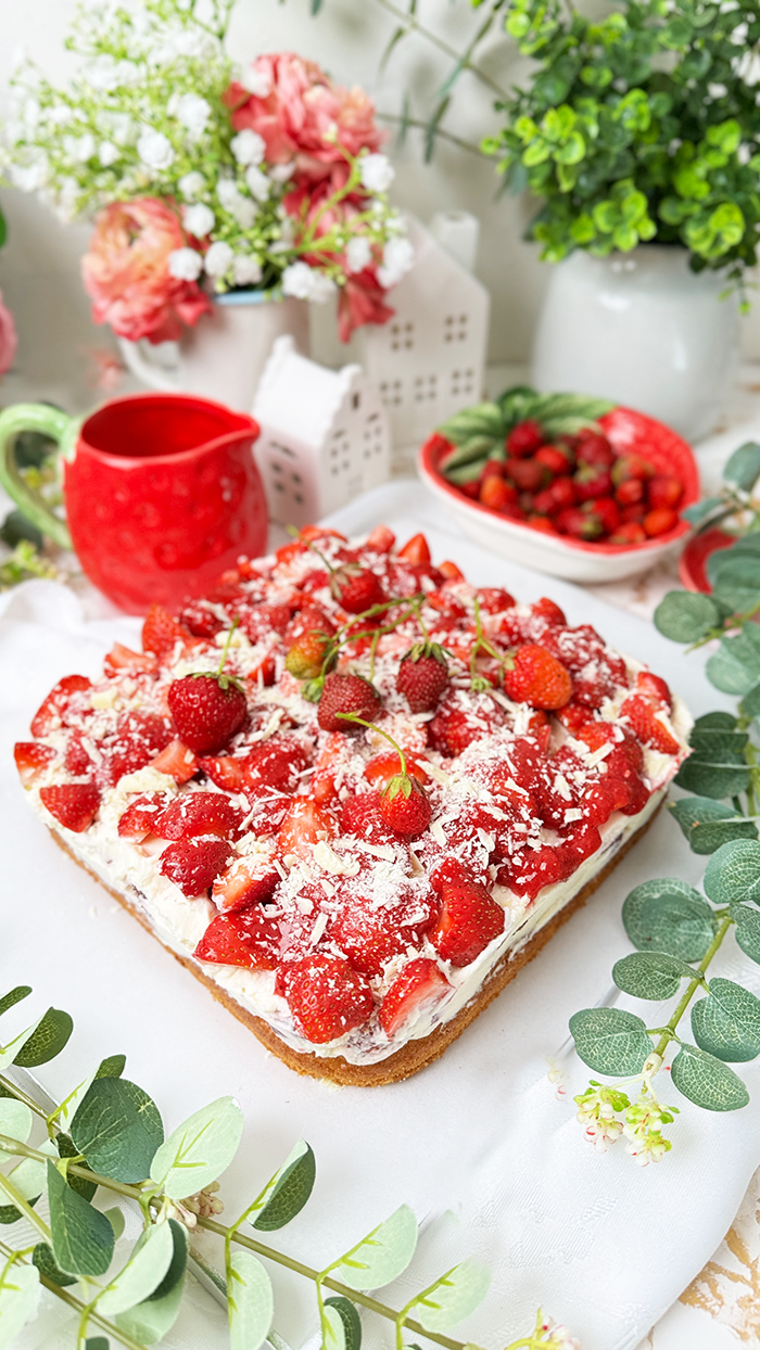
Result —
M188 239L171 205L155 197L113 201L99 212L82 278L96 324L119 338L170 342L211 310L196 281L169 273L169 254Z

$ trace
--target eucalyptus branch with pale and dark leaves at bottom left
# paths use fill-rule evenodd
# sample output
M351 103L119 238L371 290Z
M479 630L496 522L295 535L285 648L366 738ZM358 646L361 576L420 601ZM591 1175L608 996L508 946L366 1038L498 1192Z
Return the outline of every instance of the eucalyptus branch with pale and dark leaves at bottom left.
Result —
M759 845L760 849L760 845ZM0 999L0 1015L28 998L19 986ZM312 1195L315 1154L300 1139L282 1166L244 1204L231 1224L221 1211L217 1177L229 1166L243 1134L243 1114L232 1098L196 1111L165 1135L147 1092L121 1077L124 1056L111 1056L53 1110L13 1077L13 1065L38 1066L59 1054L72 1034L66 1013L49 1008L0 1045L0 1350L36 1315L40 1288L78 1315L77 1350L109 1343L144 1350L159 1342L180 1314L189 1262L198 1262L227 1299L232 1350L289 1350L273 1327L274 1296L265 1261L310 1281L316 1292L323 1350L359 1350L360 1312L394 1328L396 1350L405 1332L448 1350L478 1350L445 1332L483 1300L489 1274L474 1261L444 1272L402 1308L382 1303L381 1289L408 1269L417 1246L417 1220L402 1204L348 1251L317 1270L271 1247L254 1234L285 1227ZM32 1134L36 1122L36 1135ZM30 1137L38 1142L30 1143ZM113 1270L121 1208L99 1208L97 1192L111 1192L142 1216L142 1233L120 1269ZM192 1195L189 1193L192 1192ZM49 1218L39 1202L46 1197ZM18 1241L15 1224L27 1220ZM30 1245L24 1234L35 1231ZM194 1230L217 1234L224 1274L213 1272L190 1243ZM78 1287L77 1292L74 1292ZM329 1292L329 1296L328 1296ZM90 1335L90 1331L104 1335ZM570 1350L564 1327L539 1312L535 1330L513 1343L528 1350ZM509 1347L508 1347L509 1350Z

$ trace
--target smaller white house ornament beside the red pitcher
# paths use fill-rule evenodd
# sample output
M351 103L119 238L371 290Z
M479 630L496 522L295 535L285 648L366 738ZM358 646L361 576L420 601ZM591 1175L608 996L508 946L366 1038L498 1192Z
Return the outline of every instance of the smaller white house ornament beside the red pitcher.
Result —
M281 525L319 520L389 477L387 417L360 366L328 370L278 338L252 416L269 514Z

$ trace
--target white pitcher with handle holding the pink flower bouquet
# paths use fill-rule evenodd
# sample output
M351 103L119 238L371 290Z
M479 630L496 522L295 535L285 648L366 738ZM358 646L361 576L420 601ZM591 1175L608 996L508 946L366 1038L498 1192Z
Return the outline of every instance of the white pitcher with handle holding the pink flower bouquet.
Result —
M163 364L162 354L148 342L120 338L119 346L128 369L150 389L198 394L250 413L273 343L282 333L290 333L298 351L309 354L309 306L304 300L229 290L213 297L211 315L185 329L175 344L175 364Z

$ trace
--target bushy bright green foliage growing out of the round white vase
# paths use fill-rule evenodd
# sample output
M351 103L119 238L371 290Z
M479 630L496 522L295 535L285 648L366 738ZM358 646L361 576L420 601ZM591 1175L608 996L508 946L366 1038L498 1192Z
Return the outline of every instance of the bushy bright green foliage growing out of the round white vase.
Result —
M536 68L485 148L513 190L543 200L528 231L541 256L657 240L741 282L760 238L755 8L626 0L587 19L516 0L505 26Z

